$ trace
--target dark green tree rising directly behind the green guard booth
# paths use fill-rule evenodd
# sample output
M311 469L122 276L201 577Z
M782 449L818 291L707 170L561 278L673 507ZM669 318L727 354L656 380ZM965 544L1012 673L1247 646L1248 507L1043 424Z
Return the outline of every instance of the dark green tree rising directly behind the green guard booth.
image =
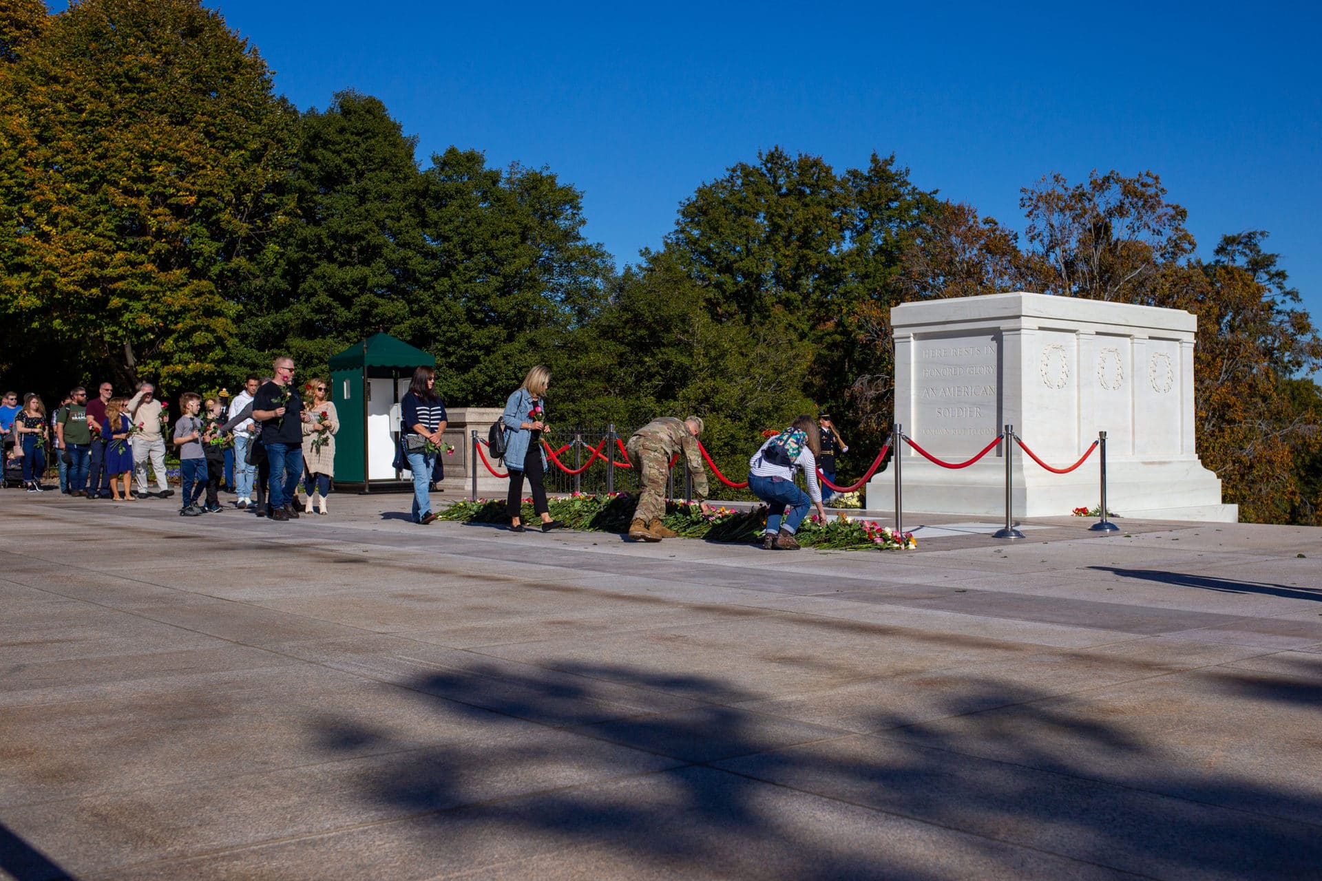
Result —
M239 301L238 362L290 354L320 372L366 335L410 335L430 256L415 147L381 100L354 91L301 115L286 182L293 219Z

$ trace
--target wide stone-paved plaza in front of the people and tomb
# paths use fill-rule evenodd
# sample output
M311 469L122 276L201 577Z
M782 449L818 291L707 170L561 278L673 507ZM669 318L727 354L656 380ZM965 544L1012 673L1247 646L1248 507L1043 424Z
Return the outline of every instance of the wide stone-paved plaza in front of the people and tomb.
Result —
M1322 877L1322 530L332 506L0 493L0 877Z

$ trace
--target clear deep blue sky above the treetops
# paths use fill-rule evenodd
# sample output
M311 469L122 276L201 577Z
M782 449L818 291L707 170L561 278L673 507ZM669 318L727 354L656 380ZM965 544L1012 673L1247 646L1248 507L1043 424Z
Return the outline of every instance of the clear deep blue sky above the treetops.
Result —
M1317 4L208 5L300 108L352 87L424 165L451 144L547 165L621 265L701 182L776 144L837 170L894 152L1021 230L1019 188L1048 172L1150 169L1204 256L1268 230L1322 321Z

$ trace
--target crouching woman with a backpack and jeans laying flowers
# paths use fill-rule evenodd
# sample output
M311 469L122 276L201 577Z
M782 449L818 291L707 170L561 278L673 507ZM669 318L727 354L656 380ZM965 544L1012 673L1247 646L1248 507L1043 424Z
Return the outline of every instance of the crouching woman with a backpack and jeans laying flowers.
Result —
M797 551L795 532L812 505L817 515L826 520L822 491L817 486L817 457L821 454L821 433L812 416L797 417L789 428L768 437L748 460L748 489L767 503L767 530L761 547L771 551ZM795 486L795 469L804 473L808 494ZM785 510L789 510L787 514Z

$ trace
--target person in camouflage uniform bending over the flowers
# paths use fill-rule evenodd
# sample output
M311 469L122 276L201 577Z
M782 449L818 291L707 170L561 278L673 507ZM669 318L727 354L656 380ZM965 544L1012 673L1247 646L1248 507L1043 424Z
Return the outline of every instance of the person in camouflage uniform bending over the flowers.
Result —
M702 420L689 416L680 421L674 416L661 416L633 432L625 444L629 465L637 470L642 493L639 507L629 524L629 538L644 542L660 542L674 538L661 518L665 516L665 481L670 473L670 458L683 453L693 473L693 494L706 511L707 472L702 468L702 454L698 452L698 435L702 433Z

